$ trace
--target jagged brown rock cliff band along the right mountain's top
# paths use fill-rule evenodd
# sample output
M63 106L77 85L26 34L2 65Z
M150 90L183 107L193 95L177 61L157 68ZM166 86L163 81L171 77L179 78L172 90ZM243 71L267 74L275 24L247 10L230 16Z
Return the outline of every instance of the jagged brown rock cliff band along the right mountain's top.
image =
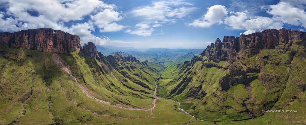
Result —
M217 38L215 44L211 43L210 46L207 46L201 55L214 62L233 63L238 52L252 57L262 49L288 50L294 40L306 40L306 32L285 28L267 29L249 35L241 34L240 37L224 36L222 42Z

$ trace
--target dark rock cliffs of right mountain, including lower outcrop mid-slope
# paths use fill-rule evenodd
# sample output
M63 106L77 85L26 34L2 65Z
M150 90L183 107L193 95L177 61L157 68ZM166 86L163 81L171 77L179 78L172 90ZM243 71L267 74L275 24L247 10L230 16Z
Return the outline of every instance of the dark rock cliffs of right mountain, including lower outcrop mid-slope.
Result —
M231 86L237 85L238 83L246 83L246 79L256 78L256 75L247 76L246 74L259 73L260 69L263 68L257 66L242 69L241 64L235 62L235 60L239 58L239 54L252 57L258 54L262 49L282 49L284 53L290 49L295 40L306 41L306 32L285 28L280 30L267 29L263 32L256 32L249 35L241 34L240 37L224 36L222 42L217 38L215 44L211 43L211 45L207 46L200 55L206 56L209 61L227 61L231 64L229 72L224 77L220 78L219 81L222 90L227 91ZM204 66L207 68L211 67L211 65L208 65L210 63L205 64L206 63L204 63Z

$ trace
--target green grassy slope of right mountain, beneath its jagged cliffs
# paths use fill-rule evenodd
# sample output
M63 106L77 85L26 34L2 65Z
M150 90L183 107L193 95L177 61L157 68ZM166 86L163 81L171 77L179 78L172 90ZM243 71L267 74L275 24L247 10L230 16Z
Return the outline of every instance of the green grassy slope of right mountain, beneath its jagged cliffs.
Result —
M159 95L182 102L181 108L209 121L250 119L251 115L263 115L262 110L288 109L305 91L305 50L304 41L295 40L289 51L263 49L251 58L240 53L240 58L231 65L225 61L208 62L205 56L199 55L179 70L166 67L161 72L164 78L159 82ZM245 83L239 80L242 76L229 72L230 66L246 70ZM223 90L220 78L226 75L237 82ZM305 104L304 101L296 103ZM258 119L274 117L264 116ZM298 115L293 113L293 116ZM293 116L288 119L294 119ZM296 123L303 123L297 119Z

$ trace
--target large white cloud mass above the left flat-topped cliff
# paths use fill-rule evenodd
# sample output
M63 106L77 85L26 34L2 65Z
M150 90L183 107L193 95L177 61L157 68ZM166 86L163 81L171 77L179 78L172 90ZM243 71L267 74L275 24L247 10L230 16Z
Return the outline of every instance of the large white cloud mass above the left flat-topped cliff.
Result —
M0 12L0 30L6 32L49 27L79 35L82 43L92 41L103 45L110 40L94 36L92 32L95 32L95 26L100 28L100 32L125 28L115 22L122 19L120 13L114 10L116 6L99 0L1 0L0 3L5 5L5 10ZM84 20L89 15L92 18ZM101 15L105 17L101 18ZM81 20L85 23L65 25Z

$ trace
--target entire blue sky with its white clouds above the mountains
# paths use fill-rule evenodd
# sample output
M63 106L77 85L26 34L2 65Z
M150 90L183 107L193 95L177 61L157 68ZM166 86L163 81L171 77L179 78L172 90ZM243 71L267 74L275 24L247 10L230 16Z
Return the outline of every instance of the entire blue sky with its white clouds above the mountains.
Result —
M0 0L0 31L50 27L81 43L200 48L271 28L304 31L306 0Z

